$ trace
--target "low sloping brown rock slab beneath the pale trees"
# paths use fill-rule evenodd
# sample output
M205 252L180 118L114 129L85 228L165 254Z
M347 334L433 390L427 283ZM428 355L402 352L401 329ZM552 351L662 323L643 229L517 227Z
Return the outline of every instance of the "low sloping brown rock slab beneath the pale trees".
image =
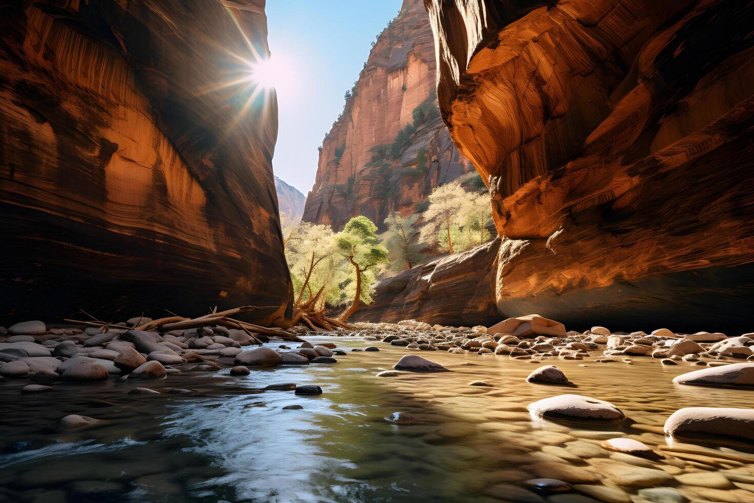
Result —
M500 240L435 259L375 285L375 302L349 321L416 319L472 327L500 321L495 306L495 262Z

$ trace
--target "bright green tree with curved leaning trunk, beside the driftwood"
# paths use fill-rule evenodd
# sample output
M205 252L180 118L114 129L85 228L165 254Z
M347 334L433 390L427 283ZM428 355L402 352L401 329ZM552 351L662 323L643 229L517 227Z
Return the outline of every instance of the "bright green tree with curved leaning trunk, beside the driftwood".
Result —
M375 275L370 268L388 262L388 250L379 243L377 225L366 216L354 216L336 235L340 255L353 266L354 276L348 283L353 287L354 300L338 317L346 321L359 308L360 301L369 303ZM349 285L346 284L346 287Z

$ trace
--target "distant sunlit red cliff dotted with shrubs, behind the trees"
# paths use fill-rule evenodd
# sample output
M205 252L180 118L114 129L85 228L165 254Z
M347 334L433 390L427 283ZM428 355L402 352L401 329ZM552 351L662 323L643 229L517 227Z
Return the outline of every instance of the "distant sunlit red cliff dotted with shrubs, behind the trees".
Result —
M421 0L404 0L323 140L304 220L340 230L352 216L364 215L381 225L391 211L415 213L435 186L472 171L437 114L418 125L397 155L390 154L400 130L413 124L414 110L434 107L434 94L427 13Z

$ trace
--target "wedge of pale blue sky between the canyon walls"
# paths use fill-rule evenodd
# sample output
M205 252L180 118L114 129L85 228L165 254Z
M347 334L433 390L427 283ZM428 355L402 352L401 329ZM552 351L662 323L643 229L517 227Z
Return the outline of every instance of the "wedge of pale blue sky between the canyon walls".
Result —
M314 185L317 146L342 112L370 42L401 0L267 0L271 61L287 67L277 89L280 130L274 173L304 195Z

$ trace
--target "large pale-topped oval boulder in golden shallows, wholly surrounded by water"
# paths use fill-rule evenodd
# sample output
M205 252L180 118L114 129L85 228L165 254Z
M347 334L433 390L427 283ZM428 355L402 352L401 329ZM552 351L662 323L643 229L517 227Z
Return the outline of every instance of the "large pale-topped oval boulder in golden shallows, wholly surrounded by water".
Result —
M561 394L530 403L529 411L546 419L574 421L621 422L624 413L604 400L584 397L580 394Z

